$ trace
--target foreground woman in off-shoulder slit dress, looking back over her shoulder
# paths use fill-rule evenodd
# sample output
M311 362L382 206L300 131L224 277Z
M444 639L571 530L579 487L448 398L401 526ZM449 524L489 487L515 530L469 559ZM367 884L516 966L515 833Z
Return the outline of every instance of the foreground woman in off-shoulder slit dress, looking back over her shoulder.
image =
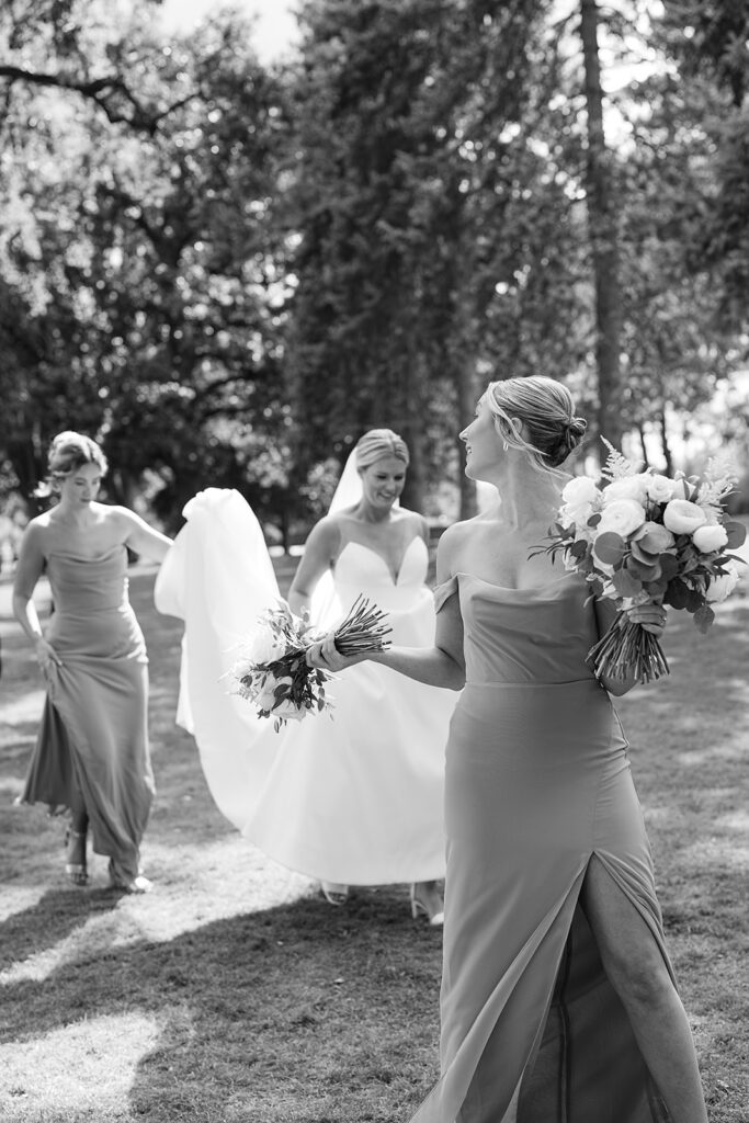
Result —
M441 1077L413 1123L706 1123L627 742L586 663L613 617L541 544L585 421L490 384L460 437L502 502L439 544L436 646L369 656L464 686L447 748ZM630 610L661 634L658 605ZM328 637L313 666L340 672ZM359 661L359 660L356 660Z

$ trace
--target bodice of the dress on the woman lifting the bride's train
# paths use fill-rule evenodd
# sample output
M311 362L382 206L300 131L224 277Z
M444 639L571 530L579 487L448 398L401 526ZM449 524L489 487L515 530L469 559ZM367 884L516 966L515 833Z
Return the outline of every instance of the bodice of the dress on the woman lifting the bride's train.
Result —
M55 612L61 615L111 612L129 604L124 546L113 546L93 558L53 553L46 572Z

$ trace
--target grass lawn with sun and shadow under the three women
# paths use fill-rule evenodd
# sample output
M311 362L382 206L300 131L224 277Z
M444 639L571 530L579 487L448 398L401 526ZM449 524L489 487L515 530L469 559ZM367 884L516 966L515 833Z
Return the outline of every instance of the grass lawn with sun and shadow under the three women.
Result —
M283 581L282 574L282 581ZM0 584L0 1119L391 1123L437 1074L440 933L405 886L331 909L243 842L174 725L180 627L133 601L150 654L158 795L145 897L63 877L63 828L15 807L42 710ZM670 678L620 703L711 1123L749 1121L749 602L673 613Z

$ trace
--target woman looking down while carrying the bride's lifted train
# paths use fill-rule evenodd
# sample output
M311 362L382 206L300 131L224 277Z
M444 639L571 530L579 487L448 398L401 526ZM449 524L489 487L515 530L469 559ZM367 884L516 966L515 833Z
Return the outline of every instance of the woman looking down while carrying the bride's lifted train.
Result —
M111 885L145 893L139 847L154 795L148 659L128 600L126 547L159 562L171 539L126 508L97 502L107 459L89 437L55 437L48 472L58 502L26 528L13 585L13 612L47 684L19 802L70 812L65 873L74 885L89 880L90 829L95 852L109 857ZM33 600L45 572L54 602L46 632Z

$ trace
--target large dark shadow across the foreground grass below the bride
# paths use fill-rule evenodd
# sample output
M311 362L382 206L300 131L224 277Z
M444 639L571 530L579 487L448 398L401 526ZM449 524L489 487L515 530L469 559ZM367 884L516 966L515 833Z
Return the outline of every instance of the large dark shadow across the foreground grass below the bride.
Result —
M26 924L43 923L45 902L58 905L45 898ZM390 888L355 893L340 910L304 898L163 943L103 948L6 986L1 1039L79 1023L95 1038L97 1020L145 1016L156 1041L137 1050L127 1117L391 1123L415 1107L437 1060L440 933L405 905ZM103 906L89 898L91 911ZM63 928L84 915L71 903Z

